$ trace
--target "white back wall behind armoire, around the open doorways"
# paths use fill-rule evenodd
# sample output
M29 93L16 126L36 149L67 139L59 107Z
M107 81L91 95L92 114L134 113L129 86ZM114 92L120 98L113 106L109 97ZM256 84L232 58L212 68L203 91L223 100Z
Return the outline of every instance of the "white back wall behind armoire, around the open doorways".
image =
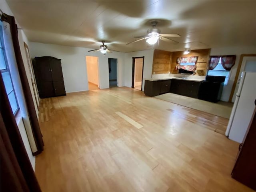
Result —
M100 52L88 52L90 48L62 46L30 42L31 58L53 56L61 59L66 92L89 90L86 70L86 56L97 56L99 62L100 88L109 88L108 58L118 59L118 86L124 83L124 53L112 52L105 56Z

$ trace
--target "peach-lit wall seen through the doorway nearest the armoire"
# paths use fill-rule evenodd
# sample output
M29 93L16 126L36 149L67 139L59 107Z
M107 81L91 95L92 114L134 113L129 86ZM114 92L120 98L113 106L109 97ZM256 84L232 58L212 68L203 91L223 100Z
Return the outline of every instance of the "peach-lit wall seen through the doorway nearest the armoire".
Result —
M88 82L98 85L98 57L86 56Z

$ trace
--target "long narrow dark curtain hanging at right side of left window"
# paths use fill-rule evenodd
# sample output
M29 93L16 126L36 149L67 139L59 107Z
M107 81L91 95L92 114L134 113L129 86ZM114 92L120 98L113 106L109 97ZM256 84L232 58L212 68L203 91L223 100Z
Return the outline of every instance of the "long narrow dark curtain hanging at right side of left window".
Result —
M17 62L18 70L19 70L19 74L20 74L22 89L24 91L24 96L25 96L25 100L26 100L26 106L28 108L30 124L32 127L34 140L36 142L36 147L38 150L37 152L33 152L33 155L38 155L44 150L44 142L43 142L42 133L41 133L41 130L39 127L38 119L36 116L36 110L35 110L34 102L32 99L32 94L30 92L28 78L26 75L26 71L24 68L24 64L23 64L23 60L22 60L22 56L21 56L21 52L20 52L17 25L15 23L15 19L13 16L8 16L6 14L3 14L1 19L10 24L10 30L12 33L12 42L13 42L16 62Z

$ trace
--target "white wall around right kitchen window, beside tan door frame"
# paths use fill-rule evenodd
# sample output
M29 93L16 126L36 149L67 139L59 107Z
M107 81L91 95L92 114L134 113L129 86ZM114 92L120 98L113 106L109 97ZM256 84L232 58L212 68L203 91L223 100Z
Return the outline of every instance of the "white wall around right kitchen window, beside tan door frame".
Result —
M223 47L223 48L212 48L210 55L236 55L236 63L232 67L230 71L230 77L228 80L228 84L224 85L221 100L228 101L230 92L232 90L232 86L236 76L236 70L238 67L238 63L240 60L241 54L256 54L256 46L251 47Z

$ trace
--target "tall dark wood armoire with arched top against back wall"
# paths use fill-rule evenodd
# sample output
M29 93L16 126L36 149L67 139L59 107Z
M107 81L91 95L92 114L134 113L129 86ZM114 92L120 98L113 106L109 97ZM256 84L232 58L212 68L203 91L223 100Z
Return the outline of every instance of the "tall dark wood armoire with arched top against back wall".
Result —
M66 95L61 59L50 56L35 57L33 68L40 98Z

